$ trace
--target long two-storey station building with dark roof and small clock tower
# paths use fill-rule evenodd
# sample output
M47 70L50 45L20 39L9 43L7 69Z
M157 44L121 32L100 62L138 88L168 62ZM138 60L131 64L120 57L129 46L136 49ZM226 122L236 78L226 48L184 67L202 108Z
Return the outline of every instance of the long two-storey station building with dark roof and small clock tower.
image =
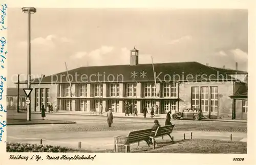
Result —
M124 103L130 103L138 113L155 105L157 114L201 108L211 119L240 119L244 113L244 103L236 106L230 96L237 92L235 86L244 84L247 72L176 62L155 63L154 76L152 63L139 64L138 50L131 50L130 56L130 65L79 67L31 80L31 110L53 103L60 111L99 112L102 104L104 110L124 113Z

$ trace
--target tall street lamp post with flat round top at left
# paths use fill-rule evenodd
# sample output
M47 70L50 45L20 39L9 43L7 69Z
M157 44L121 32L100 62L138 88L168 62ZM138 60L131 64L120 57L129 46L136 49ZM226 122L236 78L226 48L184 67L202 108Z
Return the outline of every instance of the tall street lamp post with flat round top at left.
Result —
M31 58L30 58L30 53L31 53L31 48L30 48L30 15L36 12L36 8L31 8L31 7L24 7L22 8L22 11L26 14L28 14L28 88L30 88L30 78L31 78ZM29 99L30 100L30 96ZM27 121L31 121L31 105L27 105Z

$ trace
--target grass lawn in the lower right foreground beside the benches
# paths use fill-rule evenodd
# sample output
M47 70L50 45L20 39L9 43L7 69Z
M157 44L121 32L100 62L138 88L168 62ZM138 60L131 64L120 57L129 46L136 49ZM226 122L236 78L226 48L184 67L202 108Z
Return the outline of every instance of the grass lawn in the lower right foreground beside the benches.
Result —
M135 151L136 153L229 153L246 154L247 143L222 140L190 139L165 145L155 150Z

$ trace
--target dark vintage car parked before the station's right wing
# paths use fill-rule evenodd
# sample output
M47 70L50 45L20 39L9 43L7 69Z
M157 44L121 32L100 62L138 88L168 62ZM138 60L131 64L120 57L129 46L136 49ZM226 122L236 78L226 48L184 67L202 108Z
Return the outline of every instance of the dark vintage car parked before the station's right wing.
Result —
M174 120L177 119L194 119L195 121L202 120L204 118L202 110L197 108L185 108L183 112L175 112L172 115Z

